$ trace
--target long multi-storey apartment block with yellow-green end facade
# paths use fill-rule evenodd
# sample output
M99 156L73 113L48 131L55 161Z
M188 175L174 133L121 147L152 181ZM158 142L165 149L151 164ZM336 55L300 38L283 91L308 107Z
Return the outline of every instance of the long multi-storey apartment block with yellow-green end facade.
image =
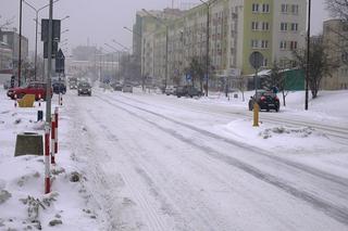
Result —
M175 84L185 76L192 57L204 63L207 13L207 4L199 4L166 20L166 26L153 18L151 26L144 26L144 75L162 82L167 76L167 84ZM263 54L264 69L272 68L274 62L290 67L293 51L304 48L306 1L217 0L210 5L209 14L210 78L254 73L249 63L253 51Z

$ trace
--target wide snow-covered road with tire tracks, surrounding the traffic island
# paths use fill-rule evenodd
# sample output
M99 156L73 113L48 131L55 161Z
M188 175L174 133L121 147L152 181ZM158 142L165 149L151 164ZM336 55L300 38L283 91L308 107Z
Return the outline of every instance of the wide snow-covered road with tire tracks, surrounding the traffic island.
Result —
M269 113L334 136L316 149L266 149L226 136L228 123L250 120L246 107L101 90L64 101L72 152L110 230L348 229L347 124Z

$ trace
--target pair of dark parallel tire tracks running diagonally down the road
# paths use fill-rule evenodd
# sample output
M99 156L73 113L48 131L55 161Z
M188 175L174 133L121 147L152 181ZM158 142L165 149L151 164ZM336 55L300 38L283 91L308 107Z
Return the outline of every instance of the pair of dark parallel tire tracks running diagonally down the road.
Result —
M159 126L157 123L150 120L150 119L147 119L125 107L122 107L113 102L111 102L109 99L103 99L101 97L98 97L100 100L102 100L103 102L107 102L109 103L110 105L113 105L117 108L121 108L125 112L127 112L128 114L139 118L139 119L142 119L144 121L147 121L149 124L151 124L152 126L157 127L158 129L175 137L176 139L185 142L185 143L188 143L192 146L195 146L196 149L199 149L201 150L203 153L206 153L207 155L213 157L213 158L217 158L220 161L223 161L236 168L239 168L240 170L256 177L257 179L259 180L262 180L264 182L268 182L283 191L285 191L286 193L299 198L299 200L302 200L304 202L307 202L308 204L310 204L311 206L313 206L314 208L319 209L319 210L322 210L323 213L325 213L327 216L334 218L335 220L348 226L348 209L346 207L340 207L340 206L335 206L334 204L332 204L331 202L327 202L323 198L320 198L319 196L315 196L311 193L308 193L306 191L302 191L302 190L299 190L299 189L296 189L295 187L291 187L289 184L287 184L285 181L283 181L282 179L275 177L275 176L272 176L270 174L266 174L266 172L263 172L261 171L260 169L247 164L247 163L244 163L235 157L232 157L232 156L226 156L224 153L221 153L219 151L215 151L209 146L204 146L204 145L200 145L200 144L197 144L195 143L195 141L192 141L191 139L188 139L188 138L185 138L184 136L179 134L178 132L176 132L175 130L172 130L172 129L169 129L169 128L164 128L164 127L161 127ZM214 134L214 133L211 133L209 131L206 131L206 130L202 130L202 129L199 129L199 128L196 128L194 126L190 126L190 125L187 125L187 124L184 124L184 123L181 123L181 121L176 121L175 119L172 119L172 118L169 118L164 115L161 115L161 114L158 114L158 113L154 113L152 111L149 111L149 110L145 110L142 107L139 107L139 106L135 106L135 105L132 105L132 104L128 104L128 103L125 103L125 102L122 102L120 100L115 100L113 99L114 101L117 101L119 103L121 104L124 104L124 105L127 105L127 106L130 106L133 108L136 108L136 110L139 110L141 112L146 112L146 113L149 113L149 114L152 114L152 115L156 115L158 117L161 117L163 119L166 119L166 120L170 120L176 125L181 125L183 127L186 127L186 128L189 128L191 130L195 130L195 131L198 131L198 132L203 132L203 136L207 136L209 138L213 138L213 139L217 139L217 140L222 140L222 141L225 141L227 143L231 143L233 145L237 145L241 149L246 149L246 150L249 150L251 149L251 151L254 151L257 153L259 153L260 151L259 150L256 150L253 146L249 146L249 145L246 145L246 144L241 144L239 142L235 142L233 140L228 140L226 138L223 138L223 137L220 137L217 134ZM268 157L271 157L269 155L266 155ZM284 162L285 159L282 159L282 158L274 158L276 161L281 161L281 162ZM287 164L287 161L284 162L284 164ZM290 163L290 164L296 164L294 167L296 168L299 168L301 169L303 166L301 165L297 165L297 163ZM291 165L290 165L291 166ZM306 166L307 167L307 166ZM304 170L307 171L307 169L301 169L301 170ZM313 172L314 171L314 172ZM321 178L324 178L326 180L332 180L332 177L334 176L326 176L326 174L324 175L324 172L321 172L320 170L316 170L316 169L311 169L310 171L308 171L309 174L314 174L314 176L316 177L321 177ZM318 174L318 175L316 175ZM335 176L336 178L336 176ZM335 180L336 183L338 184L341 184L344 187L347 187L347 180L346 179L339 179L339 180Z

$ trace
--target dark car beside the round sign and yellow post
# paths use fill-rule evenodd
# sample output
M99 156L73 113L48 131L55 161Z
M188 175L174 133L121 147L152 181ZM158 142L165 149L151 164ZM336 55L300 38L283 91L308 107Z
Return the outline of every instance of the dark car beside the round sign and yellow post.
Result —
M249 100L249 111L253 110L254 103L259 104L260 110L265 110L268 112L270 112L270 110L275 110L275 112L279 112L279 99L276 93L272 91L259 90L257 94Z

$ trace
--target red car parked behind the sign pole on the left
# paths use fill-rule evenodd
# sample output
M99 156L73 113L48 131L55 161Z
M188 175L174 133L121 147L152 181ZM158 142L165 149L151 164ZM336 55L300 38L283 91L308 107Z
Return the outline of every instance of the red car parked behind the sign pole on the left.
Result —
M8 90L8 97L12 100L14 99L22 99L25 94L35 94L35 100L41 100L46 99L46 82L41 81L35 81L30 82L26 87L20 87L20 88L11 88ZM51 97L52 97L52 90L51 90Z

